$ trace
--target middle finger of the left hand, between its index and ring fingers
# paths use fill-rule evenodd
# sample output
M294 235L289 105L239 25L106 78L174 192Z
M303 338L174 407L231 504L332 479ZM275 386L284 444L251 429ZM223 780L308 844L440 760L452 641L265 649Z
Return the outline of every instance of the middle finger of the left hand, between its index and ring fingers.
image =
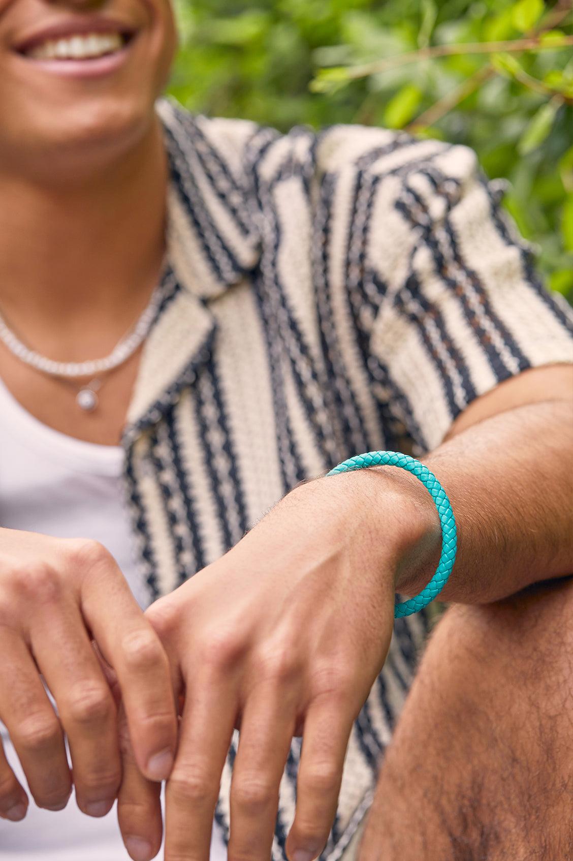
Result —
M104 816L120 786L114 697L71 596L34 619L31 647L68 738L77 806Z

